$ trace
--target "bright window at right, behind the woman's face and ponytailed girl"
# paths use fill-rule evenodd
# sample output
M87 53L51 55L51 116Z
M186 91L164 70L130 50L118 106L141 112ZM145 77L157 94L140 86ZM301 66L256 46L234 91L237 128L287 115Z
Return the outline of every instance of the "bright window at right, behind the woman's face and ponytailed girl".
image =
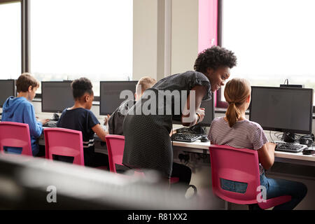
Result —
M315 87L315 1L223 0L221 45L235 52L231 78L251 85ZM224 102L221 90L218 102ZM315 104L315 102L314 102Z

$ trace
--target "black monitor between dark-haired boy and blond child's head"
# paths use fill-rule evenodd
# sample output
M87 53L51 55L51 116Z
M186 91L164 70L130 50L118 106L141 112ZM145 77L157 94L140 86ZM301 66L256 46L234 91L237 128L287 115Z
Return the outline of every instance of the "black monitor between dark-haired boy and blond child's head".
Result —
M123 90L130 90L134 94L138 81L101 81L99 94L99 114L111 114L125 99L120 99ZM134 97L132 98L134 99Z

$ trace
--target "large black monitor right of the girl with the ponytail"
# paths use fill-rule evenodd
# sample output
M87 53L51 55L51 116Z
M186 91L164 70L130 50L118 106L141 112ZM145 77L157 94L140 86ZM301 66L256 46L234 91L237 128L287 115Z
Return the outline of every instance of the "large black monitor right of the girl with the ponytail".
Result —
M311 134L313 89L251 87L249 120L265 130Z

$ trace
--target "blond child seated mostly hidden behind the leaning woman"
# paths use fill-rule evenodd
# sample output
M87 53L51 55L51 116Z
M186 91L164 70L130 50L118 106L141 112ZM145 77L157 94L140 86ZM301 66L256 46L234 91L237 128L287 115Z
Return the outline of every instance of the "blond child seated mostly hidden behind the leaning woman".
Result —
M140 78L136 86L136 92L134 94L134 98L136 100L134 102L128 102L126 100L110 116L109 134L123 135L123 121L130 107L133 106L139 99L141 99L141 96L144 93L144 91L146 91L148 88L153 87L155 83L156 83L156 80L154 78L151 78L148 76L144 76ZM123 167L120 167L120 169L125 170L123 169ZM184 189L187 189L189 186L191 173L192 172L189 167L173 162L172 176L179 178L179 184L181 184L184 187ZM195 188L195 186L192 186L192 187Z

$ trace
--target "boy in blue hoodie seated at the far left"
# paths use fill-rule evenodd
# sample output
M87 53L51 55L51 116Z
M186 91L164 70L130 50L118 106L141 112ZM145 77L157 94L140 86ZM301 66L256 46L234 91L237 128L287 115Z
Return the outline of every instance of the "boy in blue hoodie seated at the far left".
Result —
M49 119L36 120L34 106L31 104L39 87L39 82L30 73L22 73L16 81L16 87L18 97L8 97L6 99L6 102L3 104L1 120L28 124L32 154L34 156L45 155L44 150L39 153L40 150L36 139L43 133L43 125ZM22 151L18 148L8 148L8 153L20 154Z

